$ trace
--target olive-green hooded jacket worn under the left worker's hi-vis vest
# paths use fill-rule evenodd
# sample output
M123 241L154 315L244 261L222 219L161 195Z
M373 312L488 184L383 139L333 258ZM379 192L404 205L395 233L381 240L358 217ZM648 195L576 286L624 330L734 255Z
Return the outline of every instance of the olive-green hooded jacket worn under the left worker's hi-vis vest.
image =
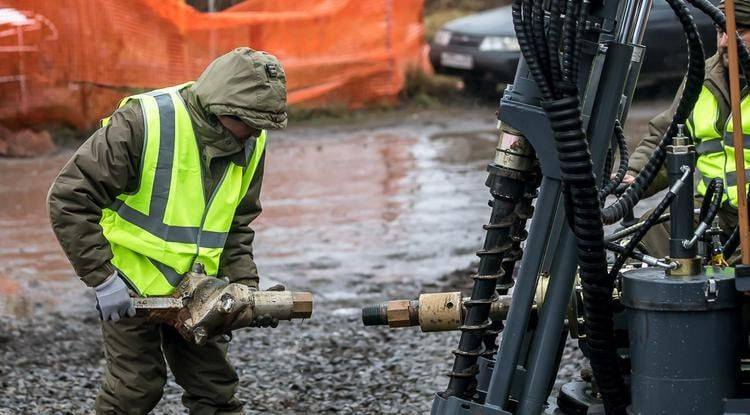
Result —
M206 198L223 173L217 160L229 158L242 165L245 154L255 146L253 138L243 146L218 122L218 115L236 115L258 129L286 126L286 77L278 60L265 52L249 48L229 52L212 62L181 94L198 138ZM143 112L140 104L131 102L115 111L109 123L78 148L49 190L52 229L88 286L100 284L115 271L99 220L102 208L117 195L137 188L143 144ZM265 154L234 214L219 268L219 275L256 287L255 233L249 224L261 213L264 161Z

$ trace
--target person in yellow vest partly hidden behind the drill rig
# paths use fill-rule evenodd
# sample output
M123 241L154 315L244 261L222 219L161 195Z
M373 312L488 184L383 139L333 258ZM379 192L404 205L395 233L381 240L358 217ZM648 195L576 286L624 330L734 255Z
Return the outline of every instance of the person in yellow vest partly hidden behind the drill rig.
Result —
M750 45L750 0L735 0L735 14L737 32L746 46ZM719 7L724 11L724 0ZM706 60L706 77L703 88L693 112L688 118L686 134L692 137L696 146L696 170L700 173L701 181L697 186L699 197L705 195L706 186L713 178L724 181L724 199L719 210L719 226L722 229L722 239L728 238L728 233L737 225L737 174L734 171L734 148L732 146L732 119L729 100L729 73L727 66L727 42L731 38L721 28L716 29L717 51ZM647 52L648 53L648 52ZM741 69L740 69L741 73ZM628 174L623 183L631 184L635 176L646 166L649 157L658 146L659 140L669 127L675 113L681 90L669 109L662 112L649 122L649 134L644 137L633 155L630 157ZM745 93L742 98L743 134L745 135L745 164L750 165L750 96ZM727 149L729 151L727 151ZM746 171L746 177L748 177ZM652 195L667 187L666 169L662 168L653 184L646 192ZM657 258L669 255L669 225L654 226L643 238L643 244L648 253ZM729 259L729 258L727 258Z

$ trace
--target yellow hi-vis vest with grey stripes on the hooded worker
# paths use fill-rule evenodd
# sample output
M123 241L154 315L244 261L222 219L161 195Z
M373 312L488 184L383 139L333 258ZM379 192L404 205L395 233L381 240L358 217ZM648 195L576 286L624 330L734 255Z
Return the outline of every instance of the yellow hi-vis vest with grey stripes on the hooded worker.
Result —
M217 274L234 212L265 147L263 131L245 167L220 161L226 163L224 174L205 200L200 150L179 94L189 85L133 95L119 104L137 100L143 110L139 185L102 211L100 225L112 264L142 296L171 294L194 263L207 275Z

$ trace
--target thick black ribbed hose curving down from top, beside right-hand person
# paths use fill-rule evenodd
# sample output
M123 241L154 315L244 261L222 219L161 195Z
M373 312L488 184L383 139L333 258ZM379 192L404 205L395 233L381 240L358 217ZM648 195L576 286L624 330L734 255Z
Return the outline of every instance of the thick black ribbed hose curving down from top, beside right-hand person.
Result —
M697 0L700 1L700 0ZM685 81L685 88L682 96L672 117L672 123L662 136L659 145L635 179L635 182L628 187L628 190L611 205L602 211L602 219L605 224L613 224L622 219L630 210L633 209L654 181L657 173L664 164L667 155L667 146L672 143L672 138L677 134L677 126L684 124L687 117L693 110L695 103L700 96L703 79L705 78L705 63L703 44L698 33L698 28L693 21L690 11L681 0L667 0L672 10L680 20L680 24L685 31L688 44L688 71Z

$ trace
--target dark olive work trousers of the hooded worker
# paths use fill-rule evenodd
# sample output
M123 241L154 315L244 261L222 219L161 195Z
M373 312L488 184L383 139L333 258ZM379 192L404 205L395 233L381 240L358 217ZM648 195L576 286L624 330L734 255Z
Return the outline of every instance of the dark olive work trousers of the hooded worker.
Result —
M221 337L197 346L173 327L140 317L102 322L102 335L107 366L97 414L149 413L164 392L167 364L190 414L242 413L234 397L239 379Z

